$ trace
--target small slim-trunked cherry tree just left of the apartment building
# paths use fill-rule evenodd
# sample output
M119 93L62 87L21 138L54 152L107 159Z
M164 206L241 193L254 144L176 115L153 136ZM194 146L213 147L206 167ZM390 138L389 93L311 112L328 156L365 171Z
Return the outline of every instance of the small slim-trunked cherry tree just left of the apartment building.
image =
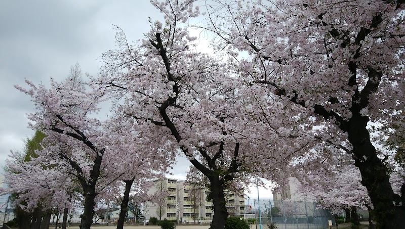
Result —
M117 229L124 226L131 199L137 198L137 203L149 199L147 189L150 185L146 180L155 179L159 174L167 172L167 168L173 163L170 157L166 157L164 148L150 145L149 140L143 138L134 128L136 126L135 119L121 119L117 115L111 119L108 128L112 140L109 145L114 146L110 148L113 157L109 159L108 167L113 173L119 174L117 185L124 188L118 188L118 193L112 193L120 200Z

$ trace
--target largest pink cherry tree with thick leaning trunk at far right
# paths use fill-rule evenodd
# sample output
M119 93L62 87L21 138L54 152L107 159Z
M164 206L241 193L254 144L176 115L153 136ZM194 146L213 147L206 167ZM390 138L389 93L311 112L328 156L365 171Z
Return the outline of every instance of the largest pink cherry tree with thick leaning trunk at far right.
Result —
M246 81L327 126L323 141L346 139L379 226L401 227L405 195L392 191L370 122L403 120L403 2L216 2L207 6L216 48L229 50Z

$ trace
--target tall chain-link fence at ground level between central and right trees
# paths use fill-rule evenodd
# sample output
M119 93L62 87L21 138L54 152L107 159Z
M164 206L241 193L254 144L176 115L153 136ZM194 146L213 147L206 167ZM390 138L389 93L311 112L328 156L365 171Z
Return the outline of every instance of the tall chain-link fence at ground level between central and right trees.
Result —
M255 218L257 229L260 221L263 229L268 229L271 223L278 229L325 229L329 227L328 220L336 226L333 215L328 210L317 209L315 202L254 200L253 206L246 209L246 218Z

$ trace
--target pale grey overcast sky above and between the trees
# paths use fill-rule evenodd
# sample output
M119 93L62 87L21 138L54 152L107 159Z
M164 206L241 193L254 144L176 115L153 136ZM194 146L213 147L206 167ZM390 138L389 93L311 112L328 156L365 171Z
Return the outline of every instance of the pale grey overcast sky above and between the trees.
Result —
M128 40L138 40L150 29L148 17L163 21L147 0L0 1L2 167L10 150L23 150L23 140L34 133L27 128L27 114L34 111L33 105L14 84L26 87L25 78L35 84L49 84L50 77L61 81L75 63L83 72L97 75L102 65L98 57L114 49L112 24L121 27ZM172 177L184 179L188 165L180 158ZM264 189L260 195L272 197ZM251 198L257 198L257 193Z

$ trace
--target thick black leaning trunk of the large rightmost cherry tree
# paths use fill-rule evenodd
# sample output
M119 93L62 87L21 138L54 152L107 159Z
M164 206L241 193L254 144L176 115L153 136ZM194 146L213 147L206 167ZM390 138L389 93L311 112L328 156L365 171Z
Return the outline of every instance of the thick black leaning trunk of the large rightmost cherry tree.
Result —
M405 225L405 205L399 203L405 203L404 198L392 191L388 168L377 157L366 128L369 118L352 113L348 133L354 165L360 170L361 184L367 188L373 203L377 228L401 228Z

